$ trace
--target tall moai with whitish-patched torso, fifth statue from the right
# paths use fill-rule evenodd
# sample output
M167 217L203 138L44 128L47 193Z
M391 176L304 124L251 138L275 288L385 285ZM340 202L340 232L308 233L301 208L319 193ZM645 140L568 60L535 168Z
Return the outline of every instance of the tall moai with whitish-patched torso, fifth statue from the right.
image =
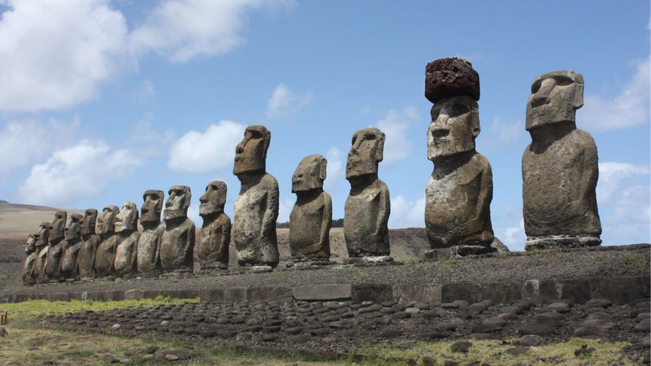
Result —
M240 266L278 265L278 182L266 172L271 132L249 126L235 149L233 174L242 183L235 201L233 240Z

